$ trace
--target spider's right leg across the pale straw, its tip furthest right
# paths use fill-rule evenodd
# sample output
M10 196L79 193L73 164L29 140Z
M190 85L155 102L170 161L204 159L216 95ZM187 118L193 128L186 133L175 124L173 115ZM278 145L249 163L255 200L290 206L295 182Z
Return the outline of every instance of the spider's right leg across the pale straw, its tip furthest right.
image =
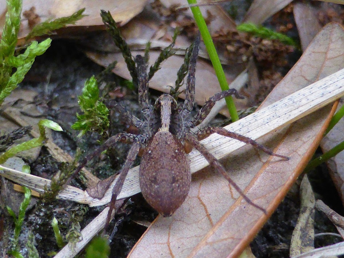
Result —
M222 136L226 136L226 137L229 137L229 138L233 138L235 140L245 142L246 144L251 144L252 146L256 147L259 150L264 151L265 153L267 153L267 154L269 154L271 156L276 156L276 157L279 157L279 158L282 158L282 159L285 159L285 160L289 160L288 157L283 156L283 155L279 155L279 154L276 154L276 153L272 152L271 150L269 150L265 146L261 145L257 141L252 140L249 137L240 135L239 133L227 131L223 127L207 127L207 128L204 128L201 131L197 132L197 139L199 141L203 140L203 139L207 138L209 135L211 135L212 133L217 133L218 135L222 135Z

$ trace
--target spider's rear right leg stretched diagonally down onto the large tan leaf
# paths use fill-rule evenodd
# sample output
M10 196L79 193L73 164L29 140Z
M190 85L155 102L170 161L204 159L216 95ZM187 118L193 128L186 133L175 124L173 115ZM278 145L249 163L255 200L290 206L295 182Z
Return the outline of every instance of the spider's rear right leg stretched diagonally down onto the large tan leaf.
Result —
M195 149L198 150L204 156L204 158L209 162L209 164L214 168L214 170L217 170L218 172L220 172L223 175L223 177L227 179L227 181L234 187L234 189L244 198L244 200L248 204L256 207L257 209L260 209L262 212L267 214L264 208L255 204L246 196L246 194L240 189L240 187L230 178L230 176L228 175L225 168L221 165L221 163L214 157L213 154L209 153L209 151L202 145L202 143L200 143L197 140L195 136L193 136L191 133L188 133L186 135L186 139L190 143L192 143Z

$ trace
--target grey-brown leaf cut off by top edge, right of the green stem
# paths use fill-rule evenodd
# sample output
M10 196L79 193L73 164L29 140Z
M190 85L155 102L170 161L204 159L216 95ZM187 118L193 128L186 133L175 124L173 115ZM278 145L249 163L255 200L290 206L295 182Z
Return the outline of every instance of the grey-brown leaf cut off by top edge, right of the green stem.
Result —
M243 22L261 24L291 2L292 0L255 0L248 9Z

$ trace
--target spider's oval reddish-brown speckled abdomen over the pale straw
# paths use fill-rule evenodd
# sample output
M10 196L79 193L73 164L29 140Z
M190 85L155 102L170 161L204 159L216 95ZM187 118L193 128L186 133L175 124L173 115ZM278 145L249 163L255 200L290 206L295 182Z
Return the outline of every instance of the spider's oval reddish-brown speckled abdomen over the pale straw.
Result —
M171 216L190 190L191 172L184 148L169 131L149 140L140 164L143 197L164 217Z

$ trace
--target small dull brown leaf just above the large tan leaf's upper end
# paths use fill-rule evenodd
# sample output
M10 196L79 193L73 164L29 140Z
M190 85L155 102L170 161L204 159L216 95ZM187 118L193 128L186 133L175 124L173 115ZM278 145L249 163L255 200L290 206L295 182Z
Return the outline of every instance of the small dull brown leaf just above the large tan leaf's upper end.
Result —
M317 10L310 2L296 2L293 7L295 23L298 28L302 51L313 40L321 25L316 17Z

